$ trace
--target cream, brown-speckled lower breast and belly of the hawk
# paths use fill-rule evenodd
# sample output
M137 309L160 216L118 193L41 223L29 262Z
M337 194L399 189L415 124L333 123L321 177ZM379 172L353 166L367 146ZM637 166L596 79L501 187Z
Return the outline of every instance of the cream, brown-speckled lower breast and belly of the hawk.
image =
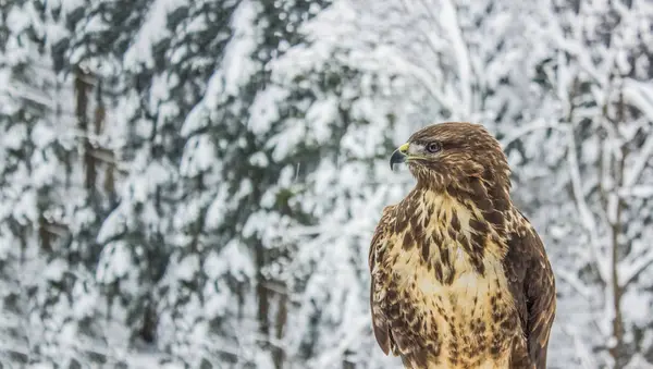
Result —
M419 247L397 246L389 255L394 271L389 286L410 311L397 319L416 341L436 347L429 368L505 367L501 362L509 357L518 317L501 255L485 253L475 261L453 238L431 245L428 258Z

